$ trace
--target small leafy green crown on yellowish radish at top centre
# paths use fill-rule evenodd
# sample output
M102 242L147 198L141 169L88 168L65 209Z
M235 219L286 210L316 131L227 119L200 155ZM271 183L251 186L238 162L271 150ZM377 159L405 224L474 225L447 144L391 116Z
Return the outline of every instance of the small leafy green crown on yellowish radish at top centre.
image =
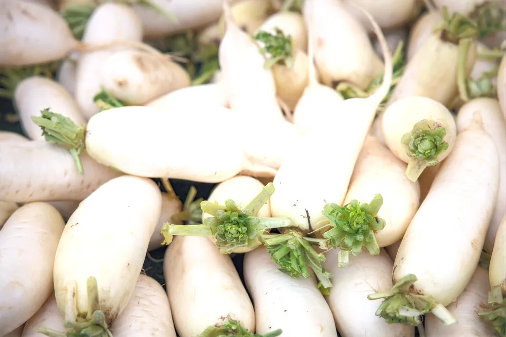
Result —
M284 64L288 68L293 66L293 41L290 35L285 35L279 28L274 28L274 34L261 30L253 36L260 53L266 61L264 68L269 69L276 63Z

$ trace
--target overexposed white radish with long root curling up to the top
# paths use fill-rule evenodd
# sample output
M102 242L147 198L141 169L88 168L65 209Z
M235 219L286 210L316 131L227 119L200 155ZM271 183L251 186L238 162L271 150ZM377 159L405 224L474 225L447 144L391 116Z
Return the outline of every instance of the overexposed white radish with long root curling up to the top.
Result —
M352 98L335 105L335 113L328 114L320 127L306 134L302 144L279 167L274 178L276 193L271 197L272 215L292 219L292 225L305 232L317 229L318 222L325 219L322 214L325 204L341 204L344 201L353 167L376 109L390 89L392 56L381 29L370 15L368 17L386 55L381 87L368 98ZM314 35L311 26L309 28L312 40ZM335 133L336 125L346 125L346 128ZM338 155L331 153L329 144L346 146L340 148ZM317 162L321 164L315 166Z

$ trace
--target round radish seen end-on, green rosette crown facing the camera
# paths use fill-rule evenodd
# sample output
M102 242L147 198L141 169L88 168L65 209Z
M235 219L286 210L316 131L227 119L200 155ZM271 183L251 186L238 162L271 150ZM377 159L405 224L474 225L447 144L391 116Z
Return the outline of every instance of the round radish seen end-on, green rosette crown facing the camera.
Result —
M409 113L406 113L409 111ZM428 97L402 98L384 111L382 134L397 158L408 163L406 176L416 181L427 166L451 153L457 128L450 111Z

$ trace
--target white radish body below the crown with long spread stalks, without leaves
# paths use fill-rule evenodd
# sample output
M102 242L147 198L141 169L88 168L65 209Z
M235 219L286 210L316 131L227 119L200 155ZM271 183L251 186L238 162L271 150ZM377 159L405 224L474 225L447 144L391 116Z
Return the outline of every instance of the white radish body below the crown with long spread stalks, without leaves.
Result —
M165 252L163 274L181 337L197 336L227 316L255 330L253 306L230 256L208 238L175 237Z

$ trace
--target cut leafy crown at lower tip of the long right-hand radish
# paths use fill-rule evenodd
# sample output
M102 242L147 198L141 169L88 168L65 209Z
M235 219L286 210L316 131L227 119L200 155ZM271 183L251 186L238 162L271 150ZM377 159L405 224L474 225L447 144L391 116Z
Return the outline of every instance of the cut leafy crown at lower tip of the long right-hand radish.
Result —
M455 317L442 305L437 304L431 296L410 293L410 287L417 280L414 274L401 278L390 291L376 292L367 296L369 300L385 299L376 310L376 316L388 323L418 325L421 315L432 312L445 325L455 323Z

